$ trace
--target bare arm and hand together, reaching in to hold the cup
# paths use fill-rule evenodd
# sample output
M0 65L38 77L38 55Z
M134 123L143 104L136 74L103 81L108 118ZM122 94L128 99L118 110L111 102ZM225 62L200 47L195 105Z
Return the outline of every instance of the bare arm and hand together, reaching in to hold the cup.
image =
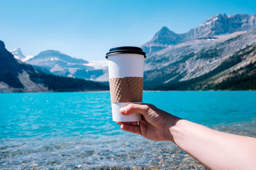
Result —
M122 130L153 141L172 141L209 169L256 169L256 138L215 131L152 104L129 104L120 113L142 115L140 125L116 122Z

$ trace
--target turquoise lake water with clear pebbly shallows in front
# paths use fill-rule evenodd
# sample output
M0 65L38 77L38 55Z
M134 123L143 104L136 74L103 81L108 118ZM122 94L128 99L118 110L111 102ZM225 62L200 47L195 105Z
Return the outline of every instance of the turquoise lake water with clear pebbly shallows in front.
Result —
M256 136L256 92L143 92L143 102L213 129ZM111 120L109 92L0 94L0 169L202 168L170 142Z

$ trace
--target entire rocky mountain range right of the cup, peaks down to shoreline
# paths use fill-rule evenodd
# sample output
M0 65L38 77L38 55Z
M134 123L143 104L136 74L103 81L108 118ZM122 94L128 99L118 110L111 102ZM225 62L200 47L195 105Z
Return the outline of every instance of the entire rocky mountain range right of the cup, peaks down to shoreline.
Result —
M255 15L219 14L185 34L163 27L142 46L145 88L255 89L255 24Z

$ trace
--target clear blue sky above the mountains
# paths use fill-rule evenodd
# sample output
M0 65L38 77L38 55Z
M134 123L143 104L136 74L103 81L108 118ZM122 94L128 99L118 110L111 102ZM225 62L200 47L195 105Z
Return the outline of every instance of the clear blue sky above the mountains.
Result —
M256 14L256 1L1 0L0 40L24 55L105 60L109 48L141 46L163 26L184 33L218 13Z

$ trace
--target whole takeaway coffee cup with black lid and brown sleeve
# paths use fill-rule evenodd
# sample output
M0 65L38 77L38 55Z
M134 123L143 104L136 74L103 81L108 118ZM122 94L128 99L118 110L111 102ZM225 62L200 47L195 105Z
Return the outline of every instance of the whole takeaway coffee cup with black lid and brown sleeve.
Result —
M122 115L120 108L130 103L142 102L145 57L145 52L135 46L111 48L106 53L112 116L115 122L135 122L141 120L139 113Z

